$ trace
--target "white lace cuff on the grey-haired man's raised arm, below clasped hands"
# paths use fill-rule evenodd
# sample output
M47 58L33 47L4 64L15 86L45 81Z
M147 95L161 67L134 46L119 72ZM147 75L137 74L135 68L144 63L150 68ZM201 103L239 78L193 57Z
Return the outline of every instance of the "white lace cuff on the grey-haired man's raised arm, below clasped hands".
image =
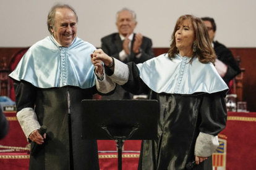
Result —
M98 75L96 73L95 75L97 78L99 78L99 79L96 78L96 87L99 92L106 94L114 90L114 88L116 87L116 83L114 83L114 81L111 78L106 76L104 67L103 67L103 75Z

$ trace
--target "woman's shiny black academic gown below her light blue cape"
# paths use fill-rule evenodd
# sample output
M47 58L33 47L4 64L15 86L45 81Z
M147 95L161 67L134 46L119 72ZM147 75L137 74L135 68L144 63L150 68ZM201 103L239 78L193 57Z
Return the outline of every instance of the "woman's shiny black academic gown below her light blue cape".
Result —
M217 136L226 126L226 91L190 95L156 93L142 79L134 63L129 65L129 81L122 87L132 94L149 94L158 100L158 140L143 140L138 169L181 170L194 161L199 132ZM111 71L106 68L106 73ZM211 156L194 169L212 169Z

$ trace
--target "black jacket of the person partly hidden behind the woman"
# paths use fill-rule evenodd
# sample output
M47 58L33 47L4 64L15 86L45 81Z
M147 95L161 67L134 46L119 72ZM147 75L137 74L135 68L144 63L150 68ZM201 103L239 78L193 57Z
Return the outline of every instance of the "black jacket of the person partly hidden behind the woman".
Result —
M213 42L213 44L217 59L221 60L221 62L228 66L227 73L223 77L225 83L228 84L231 79L241 73L241 70L236 60L234 60L233 54L227 47L225 47L223 44L220 44L218 41Z

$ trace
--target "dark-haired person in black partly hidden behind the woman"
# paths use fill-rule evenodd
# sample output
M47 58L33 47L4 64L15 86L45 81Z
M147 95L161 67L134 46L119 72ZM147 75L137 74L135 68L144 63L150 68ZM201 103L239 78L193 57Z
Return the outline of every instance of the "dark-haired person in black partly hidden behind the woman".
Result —
M214 19L210 17L203 17L201 19L205 22L205 25L208 28L211 45L213 46L213 49L217 55L215 68L225 83L228 84L231 79L241 73L241 70L236 60L234 60L231 51L218 41L213 41L216 32L216 24Z

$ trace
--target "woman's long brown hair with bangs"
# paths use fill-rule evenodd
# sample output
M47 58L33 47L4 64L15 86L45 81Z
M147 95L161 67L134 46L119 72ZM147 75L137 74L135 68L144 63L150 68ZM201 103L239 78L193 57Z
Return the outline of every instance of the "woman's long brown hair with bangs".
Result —
M184 20L190 20L192 25L194 26L195 31L195 41L197 42L197 49L192 55L192 59L195 57L198 57L199 61L201 63L215 63L216 60L216 54L213 50L213 47L211 46L211 41L209 38L207 26L205 26L205 23L197 17L194 17L193 15L182 15L177 19L176 25L174 27L174 31L171 37L171 48L168 51L168 57L170 59L174 58L174 54L178 54L179 50L176 47L176 39L175 39L175 33L177 31L177 27L181 25ZM193 44L191 48L193 47ZM192 59L190 60L190 63L192 63Z

